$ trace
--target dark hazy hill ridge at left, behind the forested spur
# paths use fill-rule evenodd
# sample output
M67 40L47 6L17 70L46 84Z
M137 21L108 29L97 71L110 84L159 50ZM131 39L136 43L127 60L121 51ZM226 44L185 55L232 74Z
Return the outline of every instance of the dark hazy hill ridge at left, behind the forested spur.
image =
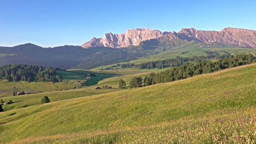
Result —
M54 48L42 48L35 44L22 44L14 47L0 46L0 66L6 64L31 64L45 67L59 67L70 69L86 57L97 52L115 52L123 49L96 47L82 48L81 46L58 46Z

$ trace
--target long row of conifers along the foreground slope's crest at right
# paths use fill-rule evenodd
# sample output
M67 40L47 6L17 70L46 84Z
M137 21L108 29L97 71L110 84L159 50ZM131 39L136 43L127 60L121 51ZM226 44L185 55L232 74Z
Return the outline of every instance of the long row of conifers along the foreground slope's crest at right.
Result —
M225 68L233 68L252 63L255 63L255 58L252 54L238 54L236 56L231 55L229 58L226 57L216 62L206 61L198 62L197 64L184 63L182 66L165 70L157 74L152 72L144 79L141 77L132 78L130 81L130 87L136 88L140 86L150 86L152 84L172 82L199 74L216 72Z

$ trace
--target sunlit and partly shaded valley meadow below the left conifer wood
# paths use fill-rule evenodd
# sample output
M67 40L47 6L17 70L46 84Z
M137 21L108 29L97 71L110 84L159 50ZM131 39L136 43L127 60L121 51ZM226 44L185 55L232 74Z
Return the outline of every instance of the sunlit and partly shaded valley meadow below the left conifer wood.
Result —
M92 77L91 79L86 79L86 75L77 74L78 72L84 72L86 74L94 73L96 77ZM114 71L113 71L114 73ZM111 72L96 72L89 70L67 70L67 71L57 71L59 76L62 76L62 82L8 82L7 80L0 80L0 98L6 96L12 96L13 91L25 93L42 93L42 92L52 92L52 91L60 91L60 90L70 90L74 89L76 86L84 87L91 86L98 83L98 81L103 80L105 78L114 77L116 74L112 74ZM75 84L75 82L82 82L81 84Z

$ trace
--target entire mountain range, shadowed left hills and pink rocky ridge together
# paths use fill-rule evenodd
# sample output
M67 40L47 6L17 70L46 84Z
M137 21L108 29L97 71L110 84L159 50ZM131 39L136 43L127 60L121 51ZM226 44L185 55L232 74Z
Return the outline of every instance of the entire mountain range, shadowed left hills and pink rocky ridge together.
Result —
M14 47L0 46L0 66L34 64L63 69L91 69L102 65L129 62L138 57L186 45L191 41L256 48L256 30L224 28L218 32L182 28L179 32L161 32L137 28L127 30L124 34L109 32L103 38L92 38L82 46L42 48L30 43Z

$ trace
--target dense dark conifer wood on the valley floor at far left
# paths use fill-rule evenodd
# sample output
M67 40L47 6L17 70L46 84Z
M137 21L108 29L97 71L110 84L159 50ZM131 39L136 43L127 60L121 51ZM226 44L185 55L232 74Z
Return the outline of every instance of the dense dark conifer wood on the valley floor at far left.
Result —
M8 64L0 67L0 79L11 81L41 81L56 82L60 80L56 70L52 67L29 64Z

